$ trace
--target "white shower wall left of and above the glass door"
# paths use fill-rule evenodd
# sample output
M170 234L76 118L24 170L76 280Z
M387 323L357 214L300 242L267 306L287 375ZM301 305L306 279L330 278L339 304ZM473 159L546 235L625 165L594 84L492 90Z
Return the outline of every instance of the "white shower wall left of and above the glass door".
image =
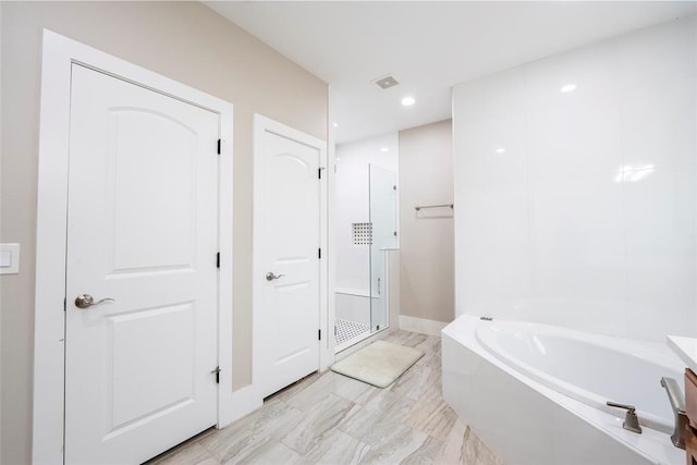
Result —
M388 151L380 151L387 148ZM334 249L337 289L356 290L369 295L370 270L367 245L353 245L352 223L368 222L368 164L392 171L399 176L398 134L337 146L334 175ZM337 313L339 315L339 308Z

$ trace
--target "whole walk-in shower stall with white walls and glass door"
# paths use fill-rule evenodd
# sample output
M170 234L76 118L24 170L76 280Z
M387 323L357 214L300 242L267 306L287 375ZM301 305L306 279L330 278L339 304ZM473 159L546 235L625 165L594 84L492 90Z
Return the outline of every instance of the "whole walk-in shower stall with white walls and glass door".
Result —
M399 243L396 149L396 135L337 147L337 352L390 326L389 254Z

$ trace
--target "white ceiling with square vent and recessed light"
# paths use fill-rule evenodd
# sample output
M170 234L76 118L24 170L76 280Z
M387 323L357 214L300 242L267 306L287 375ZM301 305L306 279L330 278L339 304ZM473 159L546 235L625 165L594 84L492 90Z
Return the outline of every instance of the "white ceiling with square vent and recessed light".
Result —
M697 11L695 1L204 3L330 84L339 144L450 118L454 84ZM400 85L372 83L386 74Z

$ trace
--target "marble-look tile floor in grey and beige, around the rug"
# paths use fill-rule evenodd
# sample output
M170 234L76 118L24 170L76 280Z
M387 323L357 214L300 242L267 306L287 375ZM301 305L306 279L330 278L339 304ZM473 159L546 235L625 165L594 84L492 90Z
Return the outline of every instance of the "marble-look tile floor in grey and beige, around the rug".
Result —
M386 341L426 354L391 387L315 374L149 464L501 465L441 396L440 338L395 331Z

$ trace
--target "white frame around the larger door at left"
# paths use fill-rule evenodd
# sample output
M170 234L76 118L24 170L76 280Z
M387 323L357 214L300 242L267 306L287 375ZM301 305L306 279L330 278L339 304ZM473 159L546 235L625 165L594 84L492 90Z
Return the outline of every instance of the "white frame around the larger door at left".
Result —
M64 297L71 68L80 63L220 115L218 235L218 427L232 421L233 106L44 29L36 229L33 462L63 463ZM211 257L213 259L215 257Z

